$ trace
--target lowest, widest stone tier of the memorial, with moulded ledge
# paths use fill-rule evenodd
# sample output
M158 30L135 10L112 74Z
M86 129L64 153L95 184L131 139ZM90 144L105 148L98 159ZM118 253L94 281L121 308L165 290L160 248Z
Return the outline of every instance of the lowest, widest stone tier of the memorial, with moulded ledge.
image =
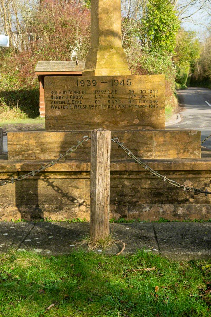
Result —
M114 144L114 146L116 146ZM80 153L78 150L78 158ZM0 179L35 170L47 160L0 160ZM201 159L145 159L159 173L208 191L211 162ZM0 187L0 220L24 218L89 219L90 163L62 161L34 177ZM211 196L189 193L153 177L130 159L111 161L110 217L170 220L211 218Z

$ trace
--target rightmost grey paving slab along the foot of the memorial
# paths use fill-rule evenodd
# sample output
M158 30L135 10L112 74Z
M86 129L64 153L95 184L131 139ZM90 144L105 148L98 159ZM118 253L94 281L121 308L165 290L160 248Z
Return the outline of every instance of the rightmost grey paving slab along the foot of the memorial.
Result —
M183 261L211 259L211 226L205 223L153 223L161 256Z

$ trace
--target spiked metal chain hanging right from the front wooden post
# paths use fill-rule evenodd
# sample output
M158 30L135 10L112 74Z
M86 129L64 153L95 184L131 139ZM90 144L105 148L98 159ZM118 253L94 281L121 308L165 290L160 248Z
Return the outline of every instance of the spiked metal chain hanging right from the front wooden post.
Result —
M211 191L208 191L207 189L205 191L201 190L201 189L197 189L194 187L189 187L189 186L185 186L185 185L181 185L179 183L177 183L176 181L167 178L166 176L163 176L161 174L158 173L158 171L154 171L150 166L146 165L145 163L141 162L140 159L138 159L129 149L127 149L127 147L123 146L123 143L121 143L118 139L118 137L114 137L113 139L111 139L114 143L117 143L119 146L121 147L125 153L127 153L127 156L129 156L131 159L133 159L135 161L135 163L138 163L139 165L141 165L141 167L143 167L146 171L149 171L153 176L156 176L158 178L163 179L164 182L169 183L173 186L176 187L180 187L183 188L184 191L191 191L194 192L195 194L200 194L203 193L205 194L205 196L207 197L208 194L211 194Z

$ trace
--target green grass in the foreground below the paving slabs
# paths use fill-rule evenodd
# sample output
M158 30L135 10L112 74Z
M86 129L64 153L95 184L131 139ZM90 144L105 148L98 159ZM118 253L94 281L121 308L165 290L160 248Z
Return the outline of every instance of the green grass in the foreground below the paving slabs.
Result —
M0 316L210 316L209 263L141 251L58 257L10 251L0 255Z

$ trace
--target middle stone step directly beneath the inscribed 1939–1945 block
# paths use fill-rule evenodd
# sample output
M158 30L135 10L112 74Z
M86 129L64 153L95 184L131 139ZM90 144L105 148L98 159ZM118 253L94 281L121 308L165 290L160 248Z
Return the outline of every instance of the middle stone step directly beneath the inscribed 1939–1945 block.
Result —
M71 132L9 132L9 159L56 159L59 153L81 140L91 131ZM121 142L135 155L144 159L194 159L201 157L201 132L195 130L116 130L112 137L118 136ZM90 160L90 142L84 142L69 159ZM125 159L126 154L111 142L111 159ZM66 158L68 159L68 157Z

